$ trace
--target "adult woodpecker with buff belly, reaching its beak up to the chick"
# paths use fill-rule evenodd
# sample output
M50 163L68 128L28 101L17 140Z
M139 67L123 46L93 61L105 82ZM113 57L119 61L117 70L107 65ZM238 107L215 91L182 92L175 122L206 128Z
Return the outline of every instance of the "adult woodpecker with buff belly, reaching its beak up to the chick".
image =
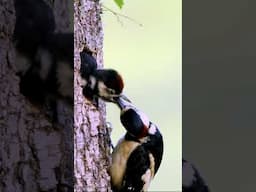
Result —
M126 134L112 153L110 176L115 192L147 191L163 156L163 138L157 126L124 95L116 98Z

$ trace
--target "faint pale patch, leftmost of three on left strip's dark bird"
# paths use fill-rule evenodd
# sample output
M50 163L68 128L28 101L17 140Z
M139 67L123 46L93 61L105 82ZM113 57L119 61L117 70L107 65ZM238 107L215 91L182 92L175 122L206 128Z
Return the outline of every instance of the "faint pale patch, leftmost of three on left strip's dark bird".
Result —
M31 61L28 57L20 54L18 51L15 52L15 65L16 70L21 75L24 75L31 66Z

